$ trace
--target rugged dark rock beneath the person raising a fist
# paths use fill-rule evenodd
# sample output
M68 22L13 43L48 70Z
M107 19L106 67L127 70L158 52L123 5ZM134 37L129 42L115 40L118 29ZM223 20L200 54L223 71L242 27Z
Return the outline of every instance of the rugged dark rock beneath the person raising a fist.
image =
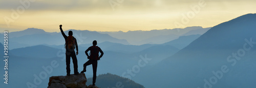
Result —
M52 76L48 88L86 88L87 79L84 73L70 76Z

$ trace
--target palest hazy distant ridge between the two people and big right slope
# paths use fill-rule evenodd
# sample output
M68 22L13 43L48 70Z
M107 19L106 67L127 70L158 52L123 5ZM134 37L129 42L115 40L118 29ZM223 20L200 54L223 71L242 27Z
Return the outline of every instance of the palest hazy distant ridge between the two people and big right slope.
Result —
M210 27L203 28L201 26L191 26L186 28L152 30L152 31L129 31L129 32L100 32L109 34L118 39L125 39L132 45L142 44L162 44L177 39L180 36L202 35L208 31Z

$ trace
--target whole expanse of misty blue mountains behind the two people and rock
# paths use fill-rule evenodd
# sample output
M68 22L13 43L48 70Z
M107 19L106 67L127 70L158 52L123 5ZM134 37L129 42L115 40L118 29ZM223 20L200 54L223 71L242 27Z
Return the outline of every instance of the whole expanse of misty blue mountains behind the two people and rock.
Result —
M246 14L211 28L194 26L130 32L72 31L79 41L78 71L88 61L84 50L92 45L93 40L98 40L104 55L98 61L97 71L97 74L103 75L98 76L96 83L102 84L102 87L115 87L116 81L133 87L254 87L255 24L256 14ZM10 84L3 87L27 87L28 82L34 83L35 77L44 73L46 78L66 75L65 41L60 33L28 28L9 33L9 37ZM3 48L0 43L0 49ZM144 58L151 58L151 61L140 62ZM46 72L43 67L51 66L53 61L57 62L58 67L53 68L51 73ZM136 68L140 64L146 66ZM127 71L134 75L131 76ZM125 72L137 83L123 82L127 78L119 76ZM90 67L86 75L92 77L92 74ZM113 80L106 83L105 78ZM46 87L48 79L41 80L36 86Z

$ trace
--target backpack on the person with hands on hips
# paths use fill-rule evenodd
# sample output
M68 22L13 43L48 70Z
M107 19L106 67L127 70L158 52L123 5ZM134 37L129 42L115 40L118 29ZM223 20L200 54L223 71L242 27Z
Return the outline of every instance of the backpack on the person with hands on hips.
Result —
M90 59L99 60L99 47L91 46Z

